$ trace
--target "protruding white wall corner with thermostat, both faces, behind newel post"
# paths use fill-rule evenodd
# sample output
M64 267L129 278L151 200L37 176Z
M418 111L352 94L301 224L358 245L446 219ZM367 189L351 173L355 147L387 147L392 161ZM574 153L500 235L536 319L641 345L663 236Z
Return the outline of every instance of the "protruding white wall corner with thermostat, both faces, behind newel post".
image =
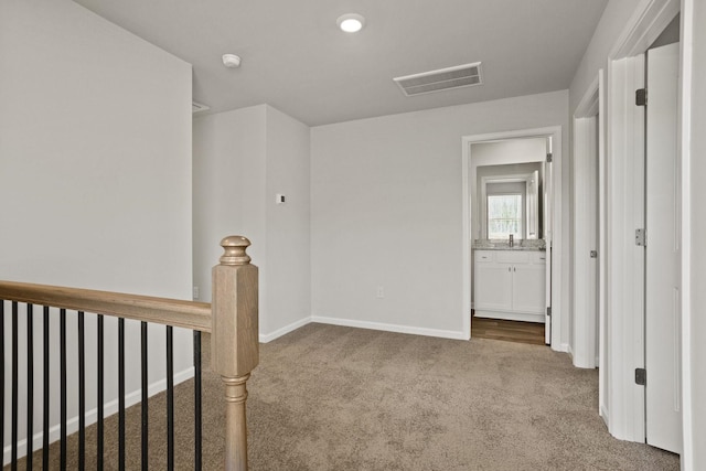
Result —
M309 127L258 105L194 119L194 283L211 300L221 239L244 235L259 275L260 340L310 317ZM276 204L275 195L286 196Z

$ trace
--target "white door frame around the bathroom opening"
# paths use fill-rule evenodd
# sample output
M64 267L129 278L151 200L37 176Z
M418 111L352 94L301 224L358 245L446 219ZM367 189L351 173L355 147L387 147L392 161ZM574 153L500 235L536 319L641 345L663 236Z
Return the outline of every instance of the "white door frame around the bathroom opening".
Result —
M548 211L544 217L544 238L546 245L546 268L543 270L546 307L544 309L545 324L548 328L545 343L557 351L566 351L566 341L563 341L564 323L561 300L568 297L568 285L565 286L561 277L561 261L564 254L564 237L561 231L561 128L559 126L541 129L527 129L517 131L495 132L462 138L462 227L463 227L463 330L471 332L471 308L473 291L473 240L479 238L480 206L478 195L473 194L478 181L478 173L473 159L473 144L498 142L505 140L544 139L549 142L547 154L552 161L552 171L545 172L545 188L548 190L543 199L546 200ZM538 258L538 257L537 257ZM543 260L544 261L544 260ZM512 267L511 267L512 270ZM536 278L536 274L535 274ZM546 309L550 308L550 309Z

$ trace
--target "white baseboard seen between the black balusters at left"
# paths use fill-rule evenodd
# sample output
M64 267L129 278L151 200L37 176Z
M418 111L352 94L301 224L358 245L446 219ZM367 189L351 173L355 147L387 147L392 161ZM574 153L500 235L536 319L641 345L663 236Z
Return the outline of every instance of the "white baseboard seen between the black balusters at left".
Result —
M193 366L184 371L181 371L179 373L175 373L174 385L178 385L179 383L183 383L184 381L190 379L193 376L194 376ZM162 390L165 390L165 389L167 389L167 379L165 378L160 379L149 385L148 395L152 397L153 395L161 393ZM125 396L125 407L128 408L130 406L138 404L141 400L141 398L142 398L141 389L137 389L128 394L127 396ZM104 410L104 417L108 417L114 414L117 414L118 399L116 398L114 400L110 400L109 403L106 403L103 406L103 410ZM88 427L92 424L95 424L97 419L98 419L97 408L86 411L86 427ZM66 435L68 436L68 435L75 433L76 431L78 431L78 416L74 416L68 420L66 420ZM39 431L32 436L32 449L34 451L42 449L43 436L44 436L43 431ZM55 426L51 427L49 430L49 442L53 443L54 441L57 441L60 438L61 438L61 425L56 424ZM26 454L26 438L18 442L18 459L24 457L25 454ZM9 446L2 449L2 465L4 467L6 464L8 464L11 459L12 459L12 445L10 443Z

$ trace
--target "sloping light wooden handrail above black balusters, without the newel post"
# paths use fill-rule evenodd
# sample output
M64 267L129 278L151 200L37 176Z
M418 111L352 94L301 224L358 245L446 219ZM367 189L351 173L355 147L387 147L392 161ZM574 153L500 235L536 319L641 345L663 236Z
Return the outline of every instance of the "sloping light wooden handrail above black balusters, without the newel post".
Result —
M211 332L207 302L0 281L0 299Z

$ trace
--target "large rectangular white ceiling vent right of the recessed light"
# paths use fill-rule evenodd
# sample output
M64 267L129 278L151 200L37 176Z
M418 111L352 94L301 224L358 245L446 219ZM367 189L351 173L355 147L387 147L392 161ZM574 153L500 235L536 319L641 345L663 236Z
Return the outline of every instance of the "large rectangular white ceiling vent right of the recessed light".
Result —
M481 63L457 65L421 74L393 78L407 96L481 85Z

